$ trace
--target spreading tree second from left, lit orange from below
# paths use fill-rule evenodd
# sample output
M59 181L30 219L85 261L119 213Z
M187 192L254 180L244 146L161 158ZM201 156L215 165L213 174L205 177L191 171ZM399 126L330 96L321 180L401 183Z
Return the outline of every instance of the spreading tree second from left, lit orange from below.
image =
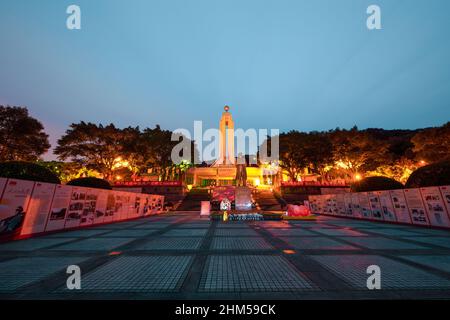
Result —
M123 152L127 137L127 132L113 124L103 126L82 121L70 125L58 140L55 154L61 160L70 158L99 171L105 179L111 179L116 158Z

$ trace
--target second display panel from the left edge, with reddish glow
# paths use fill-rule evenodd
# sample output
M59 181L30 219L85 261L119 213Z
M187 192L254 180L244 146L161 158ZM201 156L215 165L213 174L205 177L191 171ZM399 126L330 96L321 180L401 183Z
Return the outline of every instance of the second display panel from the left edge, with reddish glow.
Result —
M22 225L21 235L24 236L45 231L55 187L56 185L53 183L35 183L27 214Z

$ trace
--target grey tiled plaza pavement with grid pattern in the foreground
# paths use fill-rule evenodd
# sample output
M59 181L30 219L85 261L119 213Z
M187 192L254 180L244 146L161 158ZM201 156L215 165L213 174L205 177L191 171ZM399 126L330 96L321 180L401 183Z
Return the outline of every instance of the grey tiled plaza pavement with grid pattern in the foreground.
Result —
M66 268L81 268L81 290ZM368 290L367 267L381 269ZM176 213L0 244L0 299L450 298L450 232Z

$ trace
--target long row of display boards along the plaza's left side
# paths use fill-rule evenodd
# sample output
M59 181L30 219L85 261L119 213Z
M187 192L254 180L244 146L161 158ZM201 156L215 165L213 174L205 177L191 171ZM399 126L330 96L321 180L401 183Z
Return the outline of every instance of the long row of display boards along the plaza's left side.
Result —
M87 227L162 212L164 196L0 177L0 237Z

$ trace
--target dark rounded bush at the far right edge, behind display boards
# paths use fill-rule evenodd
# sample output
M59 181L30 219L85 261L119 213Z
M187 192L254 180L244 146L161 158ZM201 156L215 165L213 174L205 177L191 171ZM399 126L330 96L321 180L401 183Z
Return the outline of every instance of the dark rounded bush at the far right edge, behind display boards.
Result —
M406 182L407 188L450 185L450 161L442 161L414 171Z

